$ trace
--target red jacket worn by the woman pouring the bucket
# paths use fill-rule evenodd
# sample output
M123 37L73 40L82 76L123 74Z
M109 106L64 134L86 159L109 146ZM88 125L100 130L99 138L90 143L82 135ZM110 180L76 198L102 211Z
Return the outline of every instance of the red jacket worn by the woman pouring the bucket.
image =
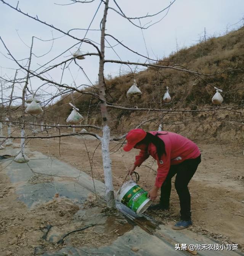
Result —
M169 131L150 131L151 134L161 133L158 135L165 144L166 155L163 154L161 159L158 158L156 146L149 143L148 150L141 150L136 156L135 165L140 166L150 155L157 160L157 176L155 186L161 187L167 177L170 165L180 164L186 159L194 159L200 156L201 152L195 143L177 133Z

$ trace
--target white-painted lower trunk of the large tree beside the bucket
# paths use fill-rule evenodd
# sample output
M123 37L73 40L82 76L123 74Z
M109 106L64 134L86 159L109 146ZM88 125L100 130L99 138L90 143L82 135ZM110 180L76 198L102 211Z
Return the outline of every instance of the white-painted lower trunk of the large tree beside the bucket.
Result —
M113 208L115 207L115 200L114 200L114 187L112 183L111 160L109 156L109 138L110 138L110 129L108 125L105 125L103 127L103 137L101 138L104 181L105 181L105 196L106 196L106 201L108 203L108 207Z

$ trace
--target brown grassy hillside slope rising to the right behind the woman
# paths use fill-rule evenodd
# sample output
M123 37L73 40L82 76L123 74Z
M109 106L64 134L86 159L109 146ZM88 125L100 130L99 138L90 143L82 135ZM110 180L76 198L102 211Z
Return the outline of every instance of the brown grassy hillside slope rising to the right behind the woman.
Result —
M243 35L244 27L225 36L210 38L206 42L181 49L156 63L186 68L199 73L218 73L217 75L196 76L169 68L148 68L139 73L106 79L108 104L164 110L215 110L167 113L109 108L112 132L123 134L141 122L154 118L141 127L146 130L157 130L159 123L163 123L164 130L175 131L195 140L217 138L226 142L233 139L237 140L236 143L241 142L244 134L243 106L228 110L222 108L244 104ZM143 94L128 99L126 92L132 86L134 79ZM162 102L166 86L169 87L172 97L170 103ZM213 105L211 102L215 94L214 86L223 90L224 101L220 106ZM94 87L93 90L95 91L96 88ZM84 123L101 125L100 106L95 97L75 92L73 98L82 115L87 117ZM51 113L58 111L57 122L65 122L71 110L66 104L70 101L71 97L65 95L51 107Z

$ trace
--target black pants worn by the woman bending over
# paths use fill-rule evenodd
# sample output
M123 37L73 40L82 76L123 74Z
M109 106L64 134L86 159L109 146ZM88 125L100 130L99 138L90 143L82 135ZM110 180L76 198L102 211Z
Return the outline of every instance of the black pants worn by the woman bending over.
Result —
M195 159L187 159L180 164L171 165L169 173L161 186L160 203L165 208L169 207L171 192L171 179L175 176L175 189L180 199L181 220L191 220L191 195L188 183L201 163L201 155Z

